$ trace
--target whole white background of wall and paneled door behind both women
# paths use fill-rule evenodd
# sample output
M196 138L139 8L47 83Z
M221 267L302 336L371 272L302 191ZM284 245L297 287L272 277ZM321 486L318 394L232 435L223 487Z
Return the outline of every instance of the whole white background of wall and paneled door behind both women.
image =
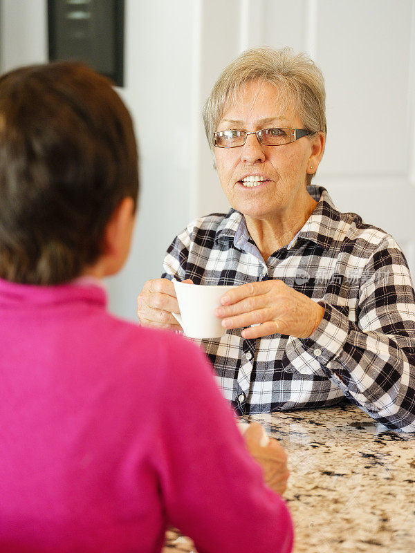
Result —
M3 70L46 61L46 0L1 10ZM315 182L394 234L414 274L415 0L126 0L120 93L138 131L141 194L131 256L108 281L113 312L135 320L175 234L228 208L201 107L223 67L264 44L306 50L322 67L329 135Z

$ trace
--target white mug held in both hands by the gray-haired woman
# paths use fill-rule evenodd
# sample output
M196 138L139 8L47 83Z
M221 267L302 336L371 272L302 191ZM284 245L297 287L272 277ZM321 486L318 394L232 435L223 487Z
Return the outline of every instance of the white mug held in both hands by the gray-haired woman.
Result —
M173 281L180 315L172 315L181 324L185 335L189 338L219 338L226 329L221 325L221 319L214 314L221 306L223 294L237 288L236 286L215 286L191 284Z

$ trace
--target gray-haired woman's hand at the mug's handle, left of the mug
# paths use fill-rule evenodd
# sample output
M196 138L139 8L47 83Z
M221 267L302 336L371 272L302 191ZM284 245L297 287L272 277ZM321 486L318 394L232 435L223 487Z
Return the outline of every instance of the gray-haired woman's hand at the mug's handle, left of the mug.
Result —
M192 283L191 280L183 282ZM137 298L137 316L142 326L181 330L172 312L180 313L172 281L168 279L147 281Z

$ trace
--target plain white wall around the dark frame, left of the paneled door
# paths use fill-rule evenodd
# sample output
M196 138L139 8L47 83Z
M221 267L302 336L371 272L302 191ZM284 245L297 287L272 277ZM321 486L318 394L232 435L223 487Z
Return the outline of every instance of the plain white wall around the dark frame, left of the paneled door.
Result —
M45 62L46 0L0 6L2 70ZM160 275L167 246L190 217L196 8L193 0L126 1L125 86L118 92L138 132L141 191L129 261L107 283L111 311L133 320L142 284Z

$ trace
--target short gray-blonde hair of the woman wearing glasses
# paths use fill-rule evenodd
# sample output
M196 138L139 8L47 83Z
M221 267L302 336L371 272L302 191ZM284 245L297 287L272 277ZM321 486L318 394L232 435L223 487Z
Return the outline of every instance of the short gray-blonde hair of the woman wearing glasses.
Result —
M327 133L324 77L313 60L305 53L295 54L291 48L252 48L223 70L203 107L205 133L212 151L213 133L225 109L241 88L252 81L274 84L281 109L294 106L305 129ZM309 177L311 182L312 175Z

